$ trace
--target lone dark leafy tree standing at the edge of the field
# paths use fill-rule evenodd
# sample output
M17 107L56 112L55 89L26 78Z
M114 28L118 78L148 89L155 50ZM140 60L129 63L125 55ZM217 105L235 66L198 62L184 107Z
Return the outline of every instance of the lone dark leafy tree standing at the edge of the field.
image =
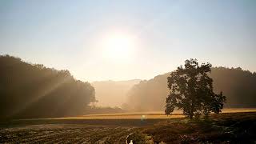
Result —
M223 108L226 97L214 94L213 79L210 73L210 63L198 66L197 59L185 61L185 66L179 66L170 74L168 87L170 94L166 98L166 114L171 114L175 107L183 110L190 119L194 114L208 115L210 112L219 113Z

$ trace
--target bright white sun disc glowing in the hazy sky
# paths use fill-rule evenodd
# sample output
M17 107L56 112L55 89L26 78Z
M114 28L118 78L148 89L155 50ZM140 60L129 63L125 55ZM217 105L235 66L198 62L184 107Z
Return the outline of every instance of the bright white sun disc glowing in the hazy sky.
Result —
M105 39L103 53L106 58L116 61L130 60L134 52L134 42L129 36L115 34Z

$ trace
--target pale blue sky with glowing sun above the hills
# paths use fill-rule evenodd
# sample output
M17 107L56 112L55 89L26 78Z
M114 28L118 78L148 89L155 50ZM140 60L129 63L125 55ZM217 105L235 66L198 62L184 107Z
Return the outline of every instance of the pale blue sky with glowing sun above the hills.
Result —
M188 58L256 71L254 0L0 0L0 54L83 81L149 79Z

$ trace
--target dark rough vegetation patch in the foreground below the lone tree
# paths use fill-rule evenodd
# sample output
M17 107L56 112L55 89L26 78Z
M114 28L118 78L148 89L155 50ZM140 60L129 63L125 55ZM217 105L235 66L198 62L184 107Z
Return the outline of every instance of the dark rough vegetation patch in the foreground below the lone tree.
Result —
M213 114L208 120L160 122L142 130L154 142L255 143L256 113Z

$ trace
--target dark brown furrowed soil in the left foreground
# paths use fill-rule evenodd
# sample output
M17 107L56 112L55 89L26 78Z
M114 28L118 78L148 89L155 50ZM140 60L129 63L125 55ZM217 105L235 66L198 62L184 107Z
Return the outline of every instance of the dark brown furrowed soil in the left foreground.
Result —
M125 143L134 128L47 124L0 130L0 143Z

